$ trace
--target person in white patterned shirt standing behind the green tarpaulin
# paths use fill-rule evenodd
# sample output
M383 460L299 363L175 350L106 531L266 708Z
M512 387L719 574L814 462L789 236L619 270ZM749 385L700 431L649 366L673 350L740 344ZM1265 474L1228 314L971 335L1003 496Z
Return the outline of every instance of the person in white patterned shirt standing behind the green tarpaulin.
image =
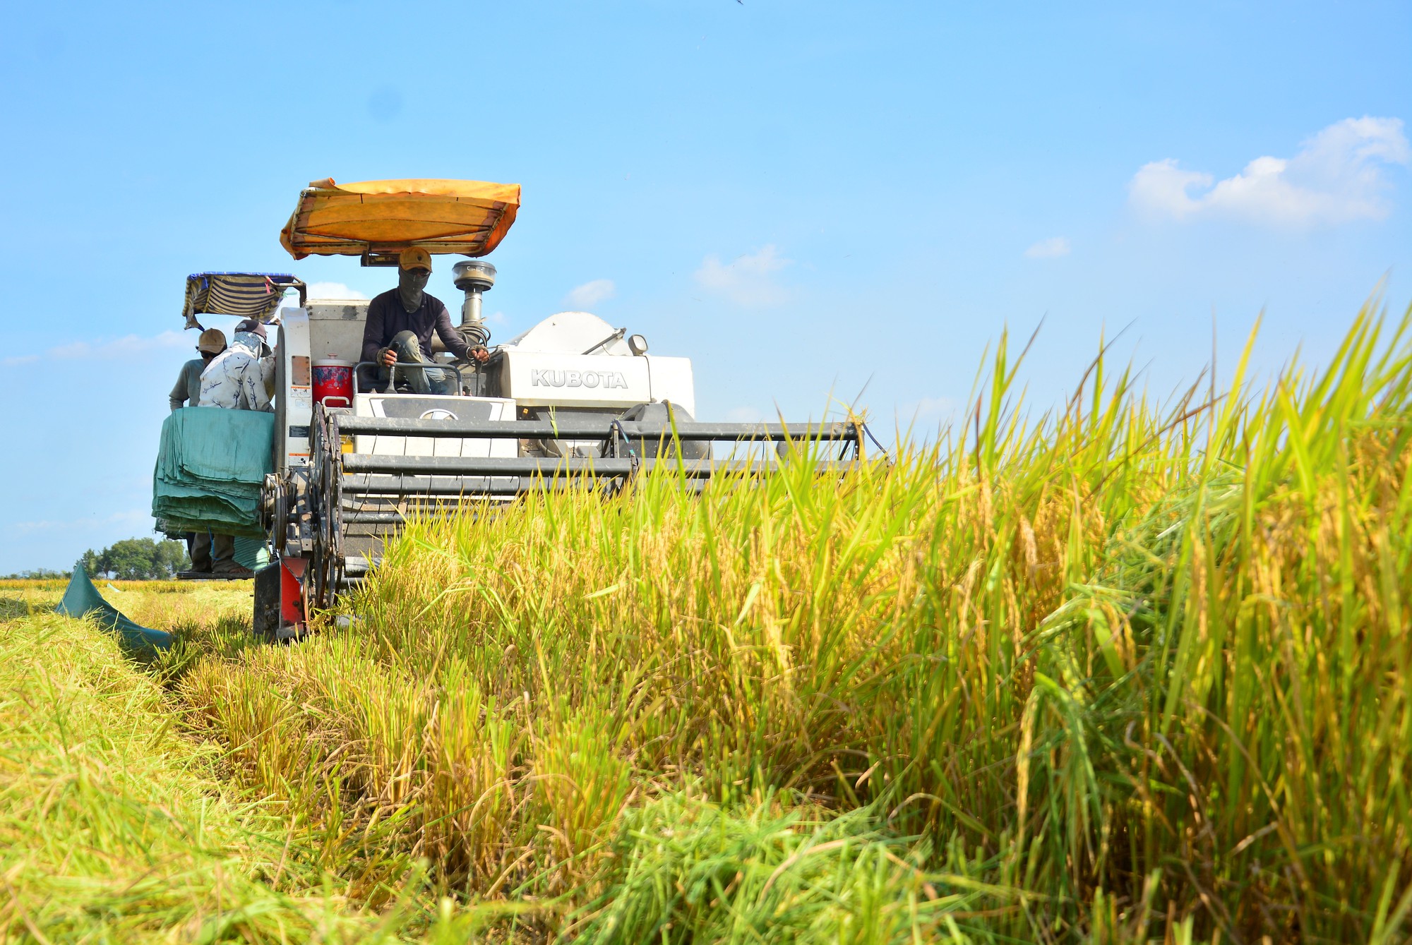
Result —
M264 326L246 319L236 326L230 347L201 374L198 406L227 410L273 410L270 394L274 389L274 355L265 344ZM254 574L236 561L236 539L230 535L198 532L192 543L193 571L212 577L243 578Z

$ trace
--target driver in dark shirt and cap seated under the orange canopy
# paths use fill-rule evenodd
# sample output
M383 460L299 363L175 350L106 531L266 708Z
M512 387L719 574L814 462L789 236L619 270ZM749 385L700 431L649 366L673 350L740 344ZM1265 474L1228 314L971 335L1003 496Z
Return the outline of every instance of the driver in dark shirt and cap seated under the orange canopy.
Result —
M462 361L484 364L490 353L469 346L450 324L450 312L441 299L426 293L432 257L408 247L397 258L397 288L376 296L367 306L363 326L363 360L378 365L378 382L388 382L394 364L435 364L431 357L432 331L446 350ZM445 370L412 368L401 372L417 394L460 394L456 375Z

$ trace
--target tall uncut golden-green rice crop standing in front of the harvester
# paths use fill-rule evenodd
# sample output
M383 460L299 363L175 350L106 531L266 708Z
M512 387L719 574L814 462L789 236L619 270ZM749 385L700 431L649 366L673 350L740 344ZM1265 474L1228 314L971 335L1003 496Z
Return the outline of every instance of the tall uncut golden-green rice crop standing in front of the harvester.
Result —
M109 599L291 941L1405 942L1409 326L1049 412L1003 339L931 444L419 520L295 646Z

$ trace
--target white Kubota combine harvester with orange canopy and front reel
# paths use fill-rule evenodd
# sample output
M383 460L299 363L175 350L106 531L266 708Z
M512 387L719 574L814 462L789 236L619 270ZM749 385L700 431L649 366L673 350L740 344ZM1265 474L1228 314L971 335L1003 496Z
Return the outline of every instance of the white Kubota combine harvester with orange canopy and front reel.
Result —
M394 267L408 247L470 257L452 276L465 292L459 330L476 346L489 340L481 295L496 282L476 257L518 209L518 185L328 179L299 195L280 240L295 260ZM768 471L774 457L741 447L751 443L834 441L840 458L860 454L861 423L698 423L690 360L648 354L641 334L586 312L549 316L486 364L438 354L455 392L435 395L409 392L405 365L380 382L360 362L367 302L301 302L280 312L275 344L274 471L261 489L271 564L256 574L254 612L267 639L302 635L412 515L530 489L618 489L662 463L699 484ZM734 444L730 458L714 443Z

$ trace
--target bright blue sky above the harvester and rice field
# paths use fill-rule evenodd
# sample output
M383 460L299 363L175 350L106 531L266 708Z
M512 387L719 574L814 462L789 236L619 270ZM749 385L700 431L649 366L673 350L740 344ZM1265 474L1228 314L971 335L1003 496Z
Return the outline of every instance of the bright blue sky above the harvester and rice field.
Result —
M289 271L301 186L517 182L504 340L590 307L703 419L935 429L987 344L1048 406L1108 336L1165 395L1412 300L1412 4L11 4L0 573L150 533L184 278ZM449 265L429 291L455 306Z

